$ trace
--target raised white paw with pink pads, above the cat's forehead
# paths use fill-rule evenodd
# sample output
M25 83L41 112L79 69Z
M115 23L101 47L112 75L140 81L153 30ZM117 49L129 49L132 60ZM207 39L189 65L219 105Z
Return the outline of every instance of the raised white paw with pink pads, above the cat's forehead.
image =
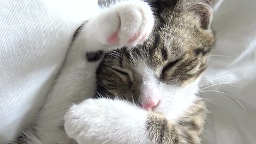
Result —
M124 1L102 12L98 19L99 41L107 45L135 46L145 41L154 26L150 6Z

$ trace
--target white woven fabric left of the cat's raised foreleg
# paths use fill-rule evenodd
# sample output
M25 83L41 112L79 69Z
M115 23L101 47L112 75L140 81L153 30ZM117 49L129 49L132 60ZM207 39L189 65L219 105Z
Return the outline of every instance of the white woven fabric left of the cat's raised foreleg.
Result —
M0 2L0 143L35 118L74 31L98 1Z

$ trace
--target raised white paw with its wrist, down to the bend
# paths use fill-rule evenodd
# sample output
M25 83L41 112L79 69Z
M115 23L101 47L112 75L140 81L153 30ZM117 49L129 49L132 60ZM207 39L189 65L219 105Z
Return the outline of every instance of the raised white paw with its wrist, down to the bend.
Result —
M123 1L85 22L73 45L89 52L135 46L146 39L153 26L154 17L147 3Z

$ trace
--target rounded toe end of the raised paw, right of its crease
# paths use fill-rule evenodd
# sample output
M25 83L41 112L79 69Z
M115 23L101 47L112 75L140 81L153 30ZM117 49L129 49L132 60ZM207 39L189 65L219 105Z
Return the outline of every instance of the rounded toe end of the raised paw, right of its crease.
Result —
M120 13L120 44L135 46L148 37L154 26L154 17L150 6L142 1L127 3Z

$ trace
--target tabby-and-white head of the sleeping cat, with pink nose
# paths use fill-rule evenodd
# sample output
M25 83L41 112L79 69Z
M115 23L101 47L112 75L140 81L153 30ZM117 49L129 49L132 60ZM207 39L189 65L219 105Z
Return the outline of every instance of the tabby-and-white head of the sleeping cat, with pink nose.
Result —
M105 55L97 70L97 91L168 113L196 98L215 43L211 1L157 1L153 6L153 33L143 45Z

